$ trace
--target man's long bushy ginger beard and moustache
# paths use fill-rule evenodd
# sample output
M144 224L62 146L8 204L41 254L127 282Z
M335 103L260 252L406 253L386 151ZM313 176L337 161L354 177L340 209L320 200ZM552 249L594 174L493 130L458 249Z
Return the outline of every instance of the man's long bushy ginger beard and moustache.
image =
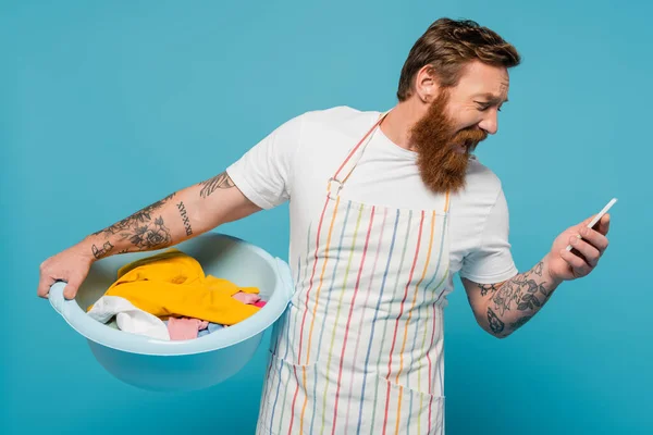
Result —
M429 189L439 194L465 188L470 151L488 137L488 133L476 126L456 132L446 115L447 103L448 92L444 90L410 130L421 178ZM465 152L458 151L460 147Z

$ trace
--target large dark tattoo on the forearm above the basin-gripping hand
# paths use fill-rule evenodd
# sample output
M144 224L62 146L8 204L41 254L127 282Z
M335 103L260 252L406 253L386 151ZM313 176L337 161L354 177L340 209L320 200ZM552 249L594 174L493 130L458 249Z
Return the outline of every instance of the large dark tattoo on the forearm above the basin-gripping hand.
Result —
M172 194L122 221L94 233L94 235L104 234L104 238L119 235L121 238L118 240L128 239L138 250L159 249L170 246L172 245L170 229L165 226L163 217L155 217L153 213L172 199L174 195ZM107 241L102 248L94 245L91 249L94 257L99 259L107 256L113 249L113 245ZM123 249L120 253L126 251L126 249Z

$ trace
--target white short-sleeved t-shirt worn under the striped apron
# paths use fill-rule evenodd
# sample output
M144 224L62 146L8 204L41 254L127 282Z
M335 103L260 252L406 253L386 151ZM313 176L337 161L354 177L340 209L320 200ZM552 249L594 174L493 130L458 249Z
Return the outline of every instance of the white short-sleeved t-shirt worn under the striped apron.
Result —
M235 185L258 207L271 209L289 200L292 266L306 254L306 237L311 224L315 231L329 177L379 115L348 107L304 113L226 169ZM341 196L391 208L443 210L444 195L426 187L416 159L416 152L395 145L377 128ZM510 254L508 208L501 182L473 156L465 189L449 198L448 223L449 277L458 272L473 282L494 284L518 273ZM451 291L451 278L448 285Z

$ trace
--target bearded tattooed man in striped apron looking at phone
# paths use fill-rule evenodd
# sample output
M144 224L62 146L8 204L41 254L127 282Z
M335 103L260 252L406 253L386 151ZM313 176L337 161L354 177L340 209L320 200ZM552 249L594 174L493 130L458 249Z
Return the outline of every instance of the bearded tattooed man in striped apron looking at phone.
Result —
M516 49L438 20L412 47L398 103L304 113L220 175L41 264L73 298L90 264L160 249L289 200L295 293L275 324L258 432L443 433L443 309L461 276L479 325L503 338L564 281L590 273L609 216L566 229L518 273L497 177L471 153L497 130ZM574 249L565 248L571 244Z

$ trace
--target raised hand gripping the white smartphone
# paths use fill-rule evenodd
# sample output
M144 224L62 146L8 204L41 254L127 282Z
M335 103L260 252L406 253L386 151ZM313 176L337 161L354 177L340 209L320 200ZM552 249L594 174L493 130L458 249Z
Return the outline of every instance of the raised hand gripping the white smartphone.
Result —
M599 259L607 249L609 214L604 214L593 228L588 224L590 216L578 225L567 228L553 241L547 256L549 274L559 282L571 281L588 275L594 270ZM578 238L580 234L581 238ZM567 251L567 246L572 249Z

